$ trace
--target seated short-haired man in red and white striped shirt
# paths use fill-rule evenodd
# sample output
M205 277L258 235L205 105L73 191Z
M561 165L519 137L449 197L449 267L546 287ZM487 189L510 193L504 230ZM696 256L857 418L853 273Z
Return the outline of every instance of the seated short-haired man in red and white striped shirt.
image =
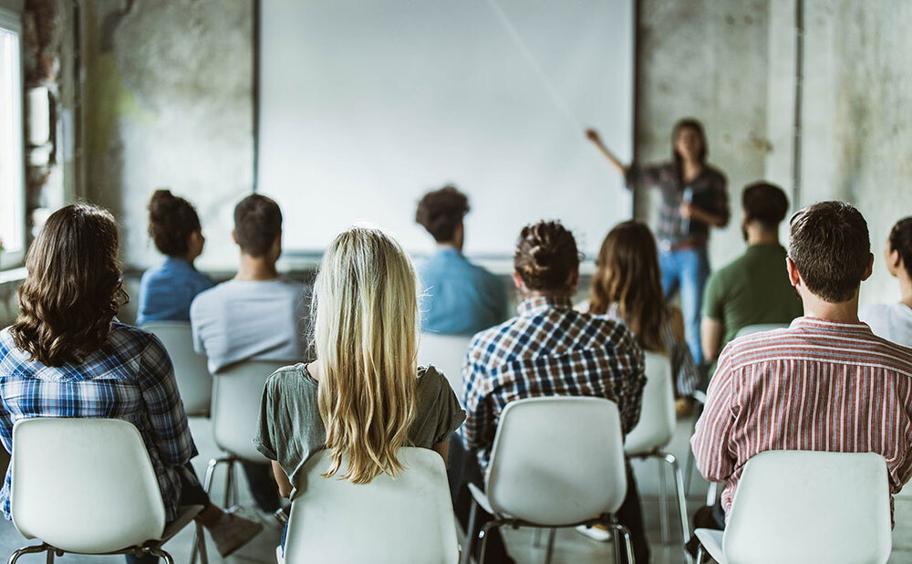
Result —
M726 482L726 515L744 464L762 451L882 454L891 494L912 475L912 349L858 320L873 264L865 218L851 205L793 215L786 267L804 317L722 351L691 439L700 472Z

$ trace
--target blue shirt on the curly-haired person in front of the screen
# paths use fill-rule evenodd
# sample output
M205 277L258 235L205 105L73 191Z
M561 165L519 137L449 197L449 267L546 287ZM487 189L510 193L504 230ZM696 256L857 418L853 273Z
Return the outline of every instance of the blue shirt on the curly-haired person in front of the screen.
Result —
M418 266L423 299L421 330L427 333L473 335L507 317L503 281L461 252L441 247Z

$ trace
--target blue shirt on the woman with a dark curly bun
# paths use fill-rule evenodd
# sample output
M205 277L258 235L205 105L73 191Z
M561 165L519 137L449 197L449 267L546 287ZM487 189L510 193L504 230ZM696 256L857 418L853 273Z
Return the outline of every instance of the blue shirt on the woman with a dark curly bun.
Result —
M140 279L140 311L136 324L146 321L190 321L196 295L214 286L212 280L182 258L169 256Z

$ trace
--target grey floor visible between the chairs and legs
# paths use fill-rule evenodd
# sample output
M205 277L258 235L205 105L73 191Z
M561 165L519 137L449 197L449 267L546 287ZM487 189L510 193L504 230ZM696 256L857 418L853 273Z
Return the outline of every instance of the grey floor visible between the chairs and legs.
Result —
M687 454L687 437L691 429L692 421L682 420L679 422L679 433L675 442L669 449L671 453L679 456L679 460L686 462ZM212 442L209 423L205 419L193 418L191 420L193 436L196 439L200 455L194 459L197 473L204 475L205 465L210 458L218 454L215 445ZM658 524L658 463L656 462L635 462L637 472L637 483L640 492L644 498L644 512L648 520L648 535L652 549L655 564L673 564L683 563L686 561L684 553L680 548L679 522L675 519L675 511L669 508L671 516L671 538L668 545L660 541L660 532ZM222 492L224 472L220 470L216 474L213 484L213 491ZM688 497L689 510L692 512L696 507L700 507L706 495L706 484L700 479L699 475L694 475L693 483ZM669 491L673 491L669 485ZM241 488L242 505L252 507L252 501L245 488ZM215 494L215 501L221 499L220 494ZM271 564L275 562L275 546L279 542L280 531L277 528L264 527L264 532L255 538L250 544L242 548L239 552L227 560L220 559L214 546L210 542L209 556L210 562L218 563L229 561L234 563L256 562ZM522 564L539 564L545 561L544 538L541 547L534 547L534 533L531 529L517 529L505 531L507 544L517 562ZM6 555L19 547L32 544L34 541L28 541L22 538L16 531L16 528L9 522L0 522L0 559L6 558ZM171 552L176 562L188 562L190 558L190 547L192 543L192 527L185 528L177 537L165 545L165 549ZM37 564L44 561L44 555L26 555L19 559L24 564ZM122 562L122 557L86 557L77 555L68 555L61 560L70 564L98 563L104 562ZM595 540L585 538L572 529L559 530L557 532L554 544L554 564L574 563L588 564L590 562L606 563L613 561L613 550L608 543L599 543ZM889 560L891 564L909 563L912 564L912 488L907 488L896 497L896 529L893 533L893 554Z

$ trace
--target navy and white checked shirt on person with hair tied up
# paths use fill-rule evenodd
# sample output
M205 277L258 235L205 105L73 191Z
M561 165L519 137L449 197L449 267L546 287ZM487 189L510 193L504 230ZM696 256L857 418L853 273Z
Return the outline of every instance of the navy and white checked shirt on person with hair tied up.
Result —
M584 395L617 402L627 433L639 420L646 385L643 351L617 321L575 311L569 298L523 301L519 316L472 338L462 366L466 448L488 463L507 403Z

